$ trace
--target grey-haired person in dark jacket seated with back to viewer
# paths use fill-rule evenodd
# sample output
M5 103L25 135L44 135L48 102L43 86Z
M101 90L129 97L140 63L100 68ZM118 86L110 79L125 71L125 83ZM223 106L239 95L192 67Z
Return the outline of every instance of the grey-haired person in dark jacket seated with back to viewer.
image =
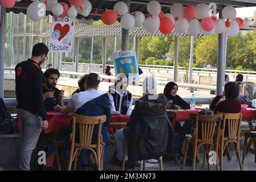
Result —
M145 78L142 86L143 97L135 102L127 127L115 133L117 151L112 160L121 164L123 144L127 138L127 168L134 168L137 160L158 160L166 150L167 143L174 138L171 123L166 115L170 102L164 94L155 94L154 78Z

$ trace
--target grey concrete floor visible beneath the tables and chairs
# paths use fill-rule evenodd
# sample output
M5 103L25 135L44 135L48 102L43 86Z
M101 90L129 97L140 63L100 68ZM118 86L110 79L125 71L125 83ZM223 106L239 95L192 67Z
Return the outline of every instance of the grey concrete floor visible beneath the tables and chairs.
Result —
M114 153L115 147L114 146L110 146L109 148L109 154L108 154L108 159L106 160L106 162L104 163L104 170L105 171L120 171L121 167L117 167L117 166L112 166L110 164L108 164L108 161L110 160L110 158L112 157L113 153ZM243 150L240 151L240 155L241 155L241 160L242 160L242 152ZM240 171L240 167L238 164L238 160L236 157L236 152L235 151L231 151L231 155L232 155L232 160L228 160L226 158L226 156L224 156L224 160L223 160L223 170L224 171ZM68 164L68 153L67 155L65 155L61 161L63 162L63 167L64 169L67 168L67 164ZM203 153L200 153L200 159L201 161L199 163L196 163L196 171L207 171L207 163L205 164L204 168L202 167L203 164ZM174 161L169 161L169 160L163 160L163 168L164 171L181 171L181 163L179 162L179 164L174 164ZM4 171L16 171L19 170L18 167L12 167L12 168L3 168L2 170ZM81 170L81 165L79 165L79 167L77 168L77 170ZM91 168L90 170L93 170L93 168ZM146 171L158 171L159 168L146 168ZM191 171L192 170L192 166L185 166L184 171ZM210 171L215 171L216 167L210 166ZM256 171L256 163L254 163L254 154L249 152L246 155L245 158L245 163L243 164L243 170L244 171ZM1 168L0 168L1 171ZM139 167L135 167L135 169L129 169L129 171L139 171Z

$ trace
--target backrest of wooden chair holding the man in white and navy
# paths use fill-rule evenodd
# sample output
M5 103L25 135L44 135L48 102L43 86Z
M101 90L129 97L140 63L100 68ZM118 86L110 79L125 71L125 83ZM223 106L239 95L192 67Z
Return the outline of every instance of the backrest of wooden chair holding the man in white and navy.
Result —
M101 141L101 126L106 122L106 115L86 116L73 114L73 140L75 142L76 123L79 124L80 147L89 148L92 142L94 125L98 125L97 144Z

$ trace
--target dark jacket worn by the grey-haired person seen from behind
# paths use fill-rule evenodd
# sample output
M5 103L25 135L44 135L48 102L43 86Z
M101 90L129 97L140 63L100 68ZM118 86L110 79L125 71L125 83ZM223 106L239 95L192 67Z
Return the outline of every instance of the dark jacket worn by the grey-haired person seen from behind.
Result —
M166 115L170 102L163 94L157 99L148 95L136 101L127 126L128 162L134 166L137 160L159 159L166 150L168 139L173 134Z

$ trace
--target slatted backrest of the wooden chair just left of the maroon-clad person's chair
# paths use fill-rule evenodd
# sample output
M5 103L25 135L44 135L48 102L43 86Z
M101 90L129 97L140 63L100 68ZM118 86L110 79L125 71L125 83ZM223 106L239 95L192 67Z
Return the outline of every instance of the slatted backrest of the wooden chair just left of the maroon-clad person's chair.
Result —
M194 136L198 139L199 125L201 125L201 142L202 143L213 143L214 133L217 129L217 137L220 134L220 127L222 121L222 114L218 115L205 115L205 114L191 114L191 118L195 118L196 126Z

